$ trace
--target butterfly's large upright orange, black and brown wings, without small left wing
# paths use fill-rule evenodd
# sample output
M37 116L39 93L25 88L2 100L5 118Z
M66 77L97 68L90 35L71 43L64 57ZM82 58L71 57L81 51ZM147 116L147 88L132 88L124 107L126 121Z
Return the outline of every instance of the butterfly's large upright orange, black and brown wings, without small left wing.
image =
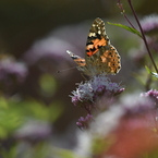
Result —
M121 69L120 56L117 49L110 45L104 21L98 17L89 29L86 44L86 63L87 66L92 66L94 63L98 74L116 74Z

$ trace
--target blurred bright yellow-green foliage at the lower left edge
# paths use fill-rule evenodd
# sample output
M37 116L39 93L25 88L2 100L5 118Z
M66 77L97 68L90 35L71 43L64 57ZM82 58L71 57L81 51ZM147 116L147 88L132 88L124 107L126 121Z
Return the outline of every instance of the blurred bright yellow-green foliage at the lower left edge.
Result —
M46 120L54 122L62 112L59 104L46 107L44 104L29 100L16 100L13 98L0 98L0 137L7 138L27 119Z

